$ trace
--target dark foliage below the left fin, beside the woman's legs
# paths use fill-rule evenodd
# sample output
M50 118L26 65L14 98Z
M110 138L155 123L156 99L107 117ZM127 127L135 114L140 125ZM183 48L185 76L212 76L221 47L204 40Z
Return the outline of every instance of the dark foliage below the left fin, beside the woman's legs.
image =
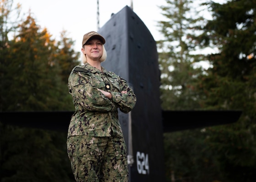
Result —
M3 125L0 133L1 182L75 182L65 133Z

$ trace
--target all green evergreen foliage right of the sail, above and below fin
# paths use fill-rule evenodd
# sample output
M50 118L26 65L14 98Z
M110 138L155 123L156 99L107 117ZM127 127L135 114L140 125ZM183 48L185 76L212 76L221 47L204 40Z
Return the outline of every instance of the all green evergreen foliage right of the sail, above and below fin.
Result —
M166 2L169 5L171 0ZM172 8L176 10L165 8L162 10L167 12L163 14L177 12L181 7L174 5L178 2L181 1L172 2ZM178 84L181 85L179 88L182 88L186 80L187 85L193 86L193 92L182 89L180 92L174 92L175 90L161 88L162 107L165 110L241 110L242 116L231 125L204 128L204 132L191 130L165 134L166 178L172 182L181 179L185 182L254 182L256 57L248 55L256 55L256 1L229 0L222 5L210 1L203 5L208 6L213 20L202 24L204 31L200 35L191 37L195 39L198 47L211 46L218 48L219 52L208 55L211 66L207 70L197 70L198 72L189 78L185 76L186 72L195 71L189 66L183 66L186 69L181 69L182 61L177 56L176 49L173 46L163 49L160 67L163 67L164 75L161 81L165 87L162 88L171 88ZM170 23L168 20L162 22L162 32L167 40L178 40L173 38L178 34L173 34L170 30L172 27L178 27L173 23L177 18L166 18L171 20ZM181 47L182 45L182 42L178 44ZM202 58L200 57L204 60ZM173 71L169 71L170 68ZM181 100L182 97L190 98L192 102Z

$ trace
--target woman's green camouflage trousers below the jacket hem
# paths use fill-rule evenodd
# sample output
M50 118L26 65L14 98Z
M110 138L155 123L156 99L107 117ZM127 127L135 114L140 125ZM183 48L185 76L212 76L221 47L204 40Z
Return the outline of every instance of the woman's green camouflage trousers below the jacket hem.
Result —
M67 143L77 182L128 182L123 137L71 136Z

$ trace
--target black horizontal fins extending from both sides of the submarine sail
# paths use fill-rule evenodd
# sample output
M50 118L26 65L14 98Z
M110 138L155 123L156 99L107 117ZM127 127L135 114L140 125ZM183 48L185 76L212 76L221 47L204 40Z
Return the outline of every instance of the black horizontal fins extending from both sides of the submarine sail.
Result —
M74 111L0 112L0 122L67 132L73 113ZM163 131L173 132L230 124L238 121L241 114L242 111L162 111Z

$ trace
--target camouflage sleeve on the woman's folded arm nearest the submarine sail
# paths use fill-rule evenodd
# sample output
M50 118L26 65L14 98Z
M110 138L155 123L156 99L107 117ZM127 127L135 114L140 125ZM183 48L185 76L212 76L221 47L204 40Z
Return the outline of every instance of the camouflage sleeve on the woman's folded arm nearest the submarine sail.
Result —
M112 101L115 102L120 111L123 113L128 113L133 109L136 104L136 95L133 93L133 89L128 86L127 81L123 78L118 77L120 92L111 92ZM126 94L122 94L121 91L127 91Z

